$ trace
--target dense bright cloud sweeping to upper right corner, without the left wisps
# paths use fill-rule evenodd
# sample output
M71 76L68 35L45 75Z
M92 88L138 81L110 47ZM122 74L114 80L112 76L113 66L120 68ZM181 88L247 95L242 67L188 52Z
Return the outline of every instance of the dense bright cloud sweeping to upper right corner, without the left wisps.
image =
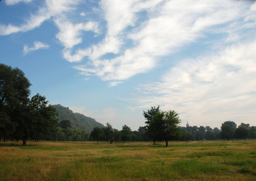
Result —
M124 4L123 1L102 1L107 21L105 39L92 46L90 55L80 57L82 60L88 56L92 63L90 66L77 66L78 70L83 70L85 75L95 73L105 81L122 81L148 72L156 67L160 57L171 55L184 45L199 38L207 40L207 34L225 33L229 35L229 41L244 38L238 28L233 30L233 22L245 29L256 26L255 12L245 1L155 2L127 1ZM140 11L146 11L148 19L138 26L136 15ZM245 21L249 17L251 21ZM132 28L132 31L127 31L127 28ZM126 40L132 40L132 48L124 49ZM220 42L227 43L227 40ZM107 53L117 57L109 60L100 58Z

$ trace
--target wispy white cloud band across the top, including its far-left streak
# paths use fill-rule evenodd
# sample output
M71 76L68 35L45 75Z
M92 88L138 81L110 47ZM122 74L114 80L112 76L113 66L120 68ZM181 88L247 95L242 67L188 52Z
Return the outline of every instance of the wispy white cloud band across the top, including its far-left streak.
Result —
M63 45L63 57L69 62L86 60L74 68L116 86L149 72L162 57L185 46L208 43L218 51L252 37L256 28L253 1L102 0L95 16L104 21L90 19L89 13L78 13L79 21L73 21L81 2L47 0L21 26L0 25L0 35L29 31L52 18L59 29L56 38ZM84 47L87 31L101 38Z

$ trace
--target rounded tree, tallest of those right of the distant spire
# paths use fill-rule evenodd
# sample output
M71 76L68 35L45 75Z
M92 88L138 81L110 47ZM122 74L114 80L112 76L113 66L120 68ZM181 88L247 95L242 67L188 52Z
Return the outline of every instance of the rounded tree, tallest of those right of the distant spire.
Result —
M233 139L235 136L236 124L233 121L225 121L221 126L221 138Z

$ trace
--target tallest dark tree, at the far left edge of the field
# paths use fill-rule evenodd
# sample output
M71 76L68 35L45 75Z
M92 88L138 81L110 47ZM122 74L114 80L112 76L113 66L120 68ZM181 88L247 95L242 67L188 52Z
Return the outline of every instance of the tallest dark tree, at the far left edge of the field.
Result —
M10 117L15 127L12 137L23 139L23 145L29 133L28 96L31 83L18 68L0 64L0 112ZM3 119L2 119L3 120Z

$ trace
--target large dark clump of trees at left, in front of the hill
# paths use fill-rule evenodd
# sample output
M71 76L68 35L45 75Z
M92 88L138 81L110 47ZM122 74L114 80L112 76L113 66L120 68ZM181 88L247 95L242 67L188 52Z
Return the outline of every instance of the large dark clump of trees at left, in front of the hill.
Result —
M29 99L31 83L18 68L0 64L0 136L39 139L53 131L57 115L46 97L36 94Z

